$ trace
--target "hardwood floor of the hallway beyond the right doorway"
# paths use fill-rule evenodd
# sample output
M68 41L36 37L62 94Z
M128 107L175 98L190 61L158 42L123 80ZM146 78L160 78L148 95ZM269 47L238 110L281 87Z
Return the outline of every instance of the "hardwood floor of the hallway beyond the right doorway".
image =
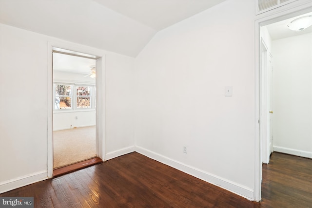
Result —
M273 152L262 166L266 208L312 208L312 159Z

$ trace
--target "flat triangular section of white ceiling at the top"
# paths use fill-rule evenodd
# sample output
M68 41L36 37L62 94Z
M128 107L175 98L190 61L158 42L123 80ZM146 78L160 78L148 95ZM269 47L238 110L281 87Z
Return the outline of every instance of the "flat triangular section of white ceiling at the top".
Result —
M215 6L225 0L96 0L156 31Z

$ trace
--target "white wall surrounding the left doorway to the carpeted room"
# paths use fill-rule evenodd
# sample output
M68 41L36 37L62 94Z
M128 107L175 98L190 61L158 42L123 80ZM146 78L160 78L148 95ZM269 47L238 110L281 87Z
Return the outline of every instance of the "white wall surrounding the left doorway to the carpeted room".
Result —
M0 24L0 192L47 177L48 41L68 43ZM106 146L118 151L133 146L133 114L127 109L134 58L102 53L107 54ZM123 72L127 77L119 76Z

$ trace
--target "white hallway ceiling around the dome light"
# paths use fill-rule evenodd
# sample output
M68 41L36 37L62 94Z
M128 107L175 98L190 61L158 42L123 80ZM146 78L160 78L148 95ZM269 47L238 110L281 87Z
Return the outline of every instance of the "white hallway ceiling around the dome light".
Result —
M288 38L288 37L292 37L292 36L298 36L298 35L302 35L302 34L306 34L306 33L311 33L312 32L312 26L308 27L304 31L292 31L287 27L287 25L292 20L297 19L299 17L308 16L308 15L312 15L312 12L267 25L266 27L270 33L272 40L277 40L277 39Z

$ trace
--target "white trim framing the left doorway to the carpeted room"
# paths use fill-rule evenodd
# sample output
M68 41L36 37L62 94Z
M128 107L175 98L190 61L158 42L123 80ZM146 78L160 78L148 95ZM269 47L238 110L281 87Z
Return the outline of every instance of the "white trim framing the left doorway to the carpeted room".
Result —
M53 60L52 53L53 48L66 49L74 52L80 52L84 54L90 54L97 57L97 76L96 76L96 89L97 89L97 101L96 101L96 153L103 161L106 154L106 142L105 142L105 54L97 49L82 46L69 42L60 41L48 41L48 76L47 76L47 89L48 89L48 120L47 120L47 132L48 132L48 157L47 168L48 178L53 177Z

